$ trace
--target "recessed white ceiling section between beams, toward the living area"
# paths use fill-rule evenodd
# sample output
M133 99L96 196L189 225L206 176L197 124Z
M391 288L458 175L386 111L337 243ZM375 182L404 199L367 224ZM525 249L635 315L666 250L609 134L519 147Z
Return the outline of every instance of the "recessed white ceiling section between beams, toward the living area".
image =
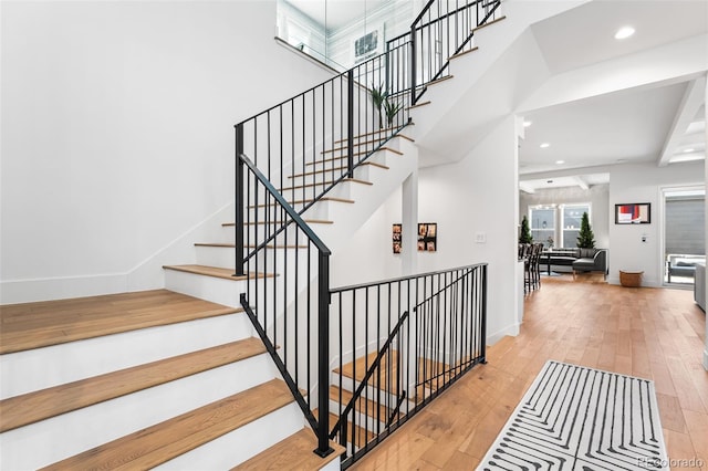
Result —
M655 160L686 83L617 92L524 114L522 174ZM541 148L541 144L550 144ZM562 164L556 164L561 161Z

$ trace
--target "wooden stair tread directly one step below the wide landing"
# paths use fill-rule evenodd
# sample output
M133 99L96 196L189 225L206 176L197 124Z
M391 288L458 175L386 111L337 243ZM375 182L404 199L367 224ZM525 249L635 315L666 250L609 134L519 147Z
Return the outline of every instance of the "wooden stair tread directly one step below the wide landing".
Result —
M266 353L244 338L0 401L0 432Z

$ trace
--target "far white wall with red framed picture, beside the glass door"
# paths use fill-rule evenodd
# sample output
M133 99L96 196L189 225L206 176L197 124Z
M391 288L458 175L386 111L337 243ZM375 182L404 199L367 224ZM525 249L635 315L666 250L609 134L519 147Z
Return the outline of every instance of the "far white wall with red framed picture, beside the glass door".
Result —
M644 165L613 166L610 175L610 283L620 283L620 270L643 271L645 286L660 286L664 261L662 255L662 188L680 185L704 185L702 161L657 167ZM621 203L652 203L652 223L615 224L614 207ZM646 236L646 242L642 237Z

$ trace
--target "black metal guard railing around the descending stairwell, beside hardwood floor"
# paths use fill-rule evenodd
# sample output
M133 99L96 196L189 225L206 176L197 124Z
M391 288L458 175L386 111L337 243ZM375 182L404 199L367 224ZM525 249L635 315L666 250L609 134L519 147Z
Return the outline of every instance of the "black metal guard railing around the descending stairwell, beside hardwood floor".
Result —
M487 265L331 293L339 420L330 438L346 448L347 468L485 362Z

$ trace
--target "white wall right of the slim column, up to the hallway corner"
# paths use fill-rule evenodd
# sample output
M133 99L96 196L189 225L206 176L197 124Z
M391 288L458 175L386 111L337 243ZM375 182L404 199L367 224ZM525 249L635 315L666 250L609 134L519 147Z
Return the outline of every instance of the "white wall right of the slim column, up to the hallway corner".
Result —
M421 253L418 270L489 263L487 336L492 343L518 333L517 142L510 115L460 163L425 168L419 174L418 219L438 223L438 251ZM478 234L485 243L476 242Z

